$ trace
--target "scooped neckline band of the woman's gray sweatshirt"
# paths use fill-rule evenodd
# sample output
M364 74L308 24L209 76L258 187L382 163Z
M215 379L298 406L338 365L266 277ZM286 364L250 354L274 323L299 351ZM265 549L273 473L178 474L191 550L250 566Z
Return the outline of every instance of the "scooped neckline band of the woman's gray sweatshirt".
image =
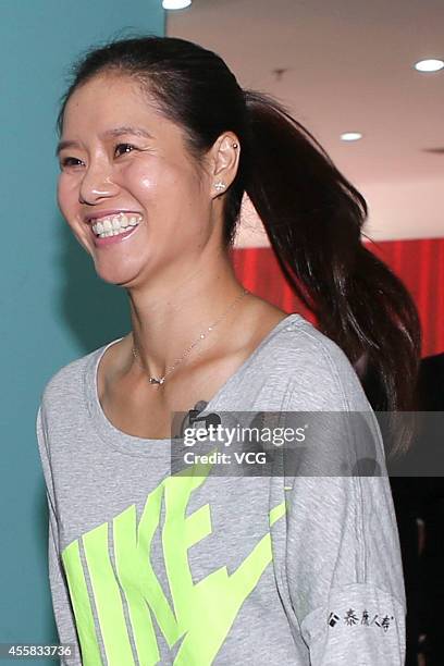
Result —
M222 396L230 390L232 384L238 380L238 378L249 368L258 355L267 347L271 340L284 328L295 324L301 316L297 312L292 312L281 319L261 342L255 347L251 354L242 362L242 365L229 377L229 379L222 384L217 393L211 397L208 403L205 403L202 414L207 410L214 409L217 403ZM141 455L141 456L168 456L171 455L171 439L145 439L132 435L123 432L108 419L98 395L98 383L97 383L97 371L101 358L111 345L116 344L123 340L123 336L118 337L102 347L99 347L89 355L89 360L85 367L84 373L84 388L88 406L89 417L91 418L92 424L100 435L100 437L114 448L127 455ZM190 407L192 409L192 407ZM180 440L173 440L173 442L180 442Z

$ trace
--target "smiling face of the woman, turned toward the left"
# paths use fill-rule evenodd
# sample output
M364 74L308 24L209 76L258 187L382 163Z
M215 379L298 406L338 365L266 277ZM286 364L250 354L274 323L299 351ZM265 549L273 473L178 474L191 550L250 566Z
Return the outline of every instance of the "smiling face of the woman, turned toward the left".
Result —
M103 280L189 275L214 237L213 178L202 171L199 181L182 130L134 81L98 75L77 88L59 156L60 209Z

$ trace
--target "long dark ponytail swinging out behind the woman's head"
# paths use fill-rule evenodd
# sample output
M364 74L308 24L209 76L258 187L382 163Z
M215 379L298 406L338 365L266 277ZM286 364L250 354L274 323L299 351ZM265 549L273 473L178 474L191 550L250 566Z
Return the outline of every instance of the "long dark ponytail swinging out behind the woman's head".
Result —
M285 279L353 365L375 410L415 408L421 333L403 283L362 244L368 209L316 138L274 98L246 90L246 192ZM399 433L400 434L400 433ZM409 445L402 433L392 455Z

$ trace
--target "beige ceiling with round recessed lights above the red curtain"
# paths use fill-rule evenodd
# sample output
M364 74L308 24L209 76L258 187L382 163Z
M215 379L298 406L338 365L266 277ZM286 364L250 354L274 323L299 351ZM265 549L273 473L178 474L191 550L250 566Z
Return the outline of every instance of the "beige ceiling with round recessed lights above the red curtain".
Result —
M369 236L444 236L444 70L412 69L444 58L444 0L194 0L166 14L168 35L217 51L317 136L367 198ZM365 137L345 144L348 131ZM267 244L246 213L238 244Z

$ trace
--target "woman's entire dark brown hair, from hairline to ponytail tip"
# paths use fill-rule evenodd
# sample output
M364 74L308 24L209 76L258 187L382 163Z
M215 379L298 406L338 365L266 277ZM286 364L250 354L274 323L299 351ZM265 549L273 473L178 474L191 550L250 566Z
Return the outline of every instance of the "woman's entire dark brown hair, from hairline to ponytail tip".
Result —
M244 90L217 53L153 35L115 39L82 57L61 101L59 134L72 92L101 73L132 76L153 95L164 116L182 126L197 163L221 133L238 137L239 166L224 195L226 248L246 192L286 280L319 329L351 363L366 356L381 387L369 395L373 408L414 409L417 310L403 283L362 244L366 201L316 138L276 99ZM403 435L394 448L407 444Z

